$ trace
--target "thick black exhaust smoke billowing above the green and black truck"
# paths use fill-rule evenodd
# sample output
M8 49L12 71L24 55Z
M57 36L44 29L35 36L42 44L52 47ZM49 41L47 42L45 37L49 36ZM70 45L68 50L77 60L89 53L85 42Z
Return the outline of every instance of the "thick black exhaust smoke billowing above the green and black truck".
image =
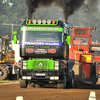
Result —
M34 12L39 6L49 7L52 3L63 9L65 20L73 14L82 4L84 0L25 0L28 7L28 18L31 19Z

